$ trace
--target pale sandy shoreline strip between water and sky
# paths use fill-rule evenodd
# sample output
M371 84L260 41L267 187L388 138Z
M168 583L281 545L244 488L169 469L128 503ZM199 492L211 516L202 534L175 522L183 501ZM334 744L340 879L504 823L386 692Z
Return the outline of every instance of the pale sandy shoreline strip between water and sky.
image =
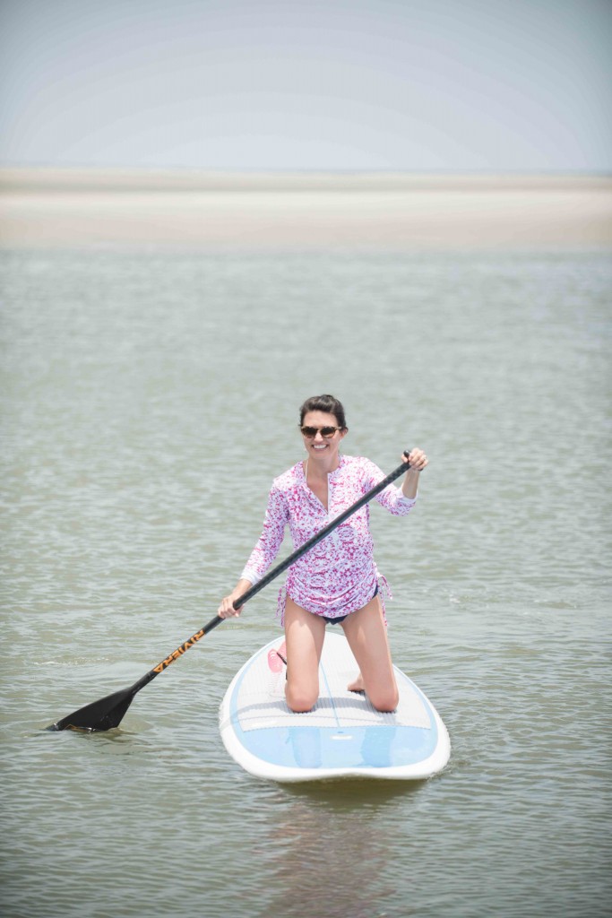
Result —
M612 176L0 168L0 247L612 247Z

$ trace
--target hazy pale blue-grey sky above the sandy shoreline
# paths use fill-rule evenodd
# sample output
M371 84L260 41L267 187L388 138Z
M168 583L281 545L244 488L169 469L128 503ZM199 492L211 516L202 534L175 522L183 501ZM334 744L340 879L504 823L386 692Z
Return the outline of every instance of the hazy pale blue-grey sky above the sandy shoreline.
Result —
M612 169L612 0L0 0L0 163Z

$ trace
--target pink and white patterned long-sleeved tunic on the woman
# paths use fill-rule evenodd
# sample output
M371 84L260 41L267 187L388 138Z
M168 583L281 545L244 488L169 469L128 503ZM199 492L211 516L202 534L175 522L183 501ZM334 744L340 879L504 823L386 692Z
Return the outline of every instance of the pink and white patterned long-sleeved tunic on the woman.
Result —
M339 467L328 475L327 510L306 485L301 462L274 478L263 532L241 577L252 584L261 580L278 553L287 523L295 548L299 548L383 478L384 473L369 459L340 455ZM405 516L416 502L416 498L405 498L395 485L385 487L375 499L396 516ZM374 563L369 521L366 504L291 565L279 593L282 622L286 595L315 615L338 618L361 609L378 586L384 610L387 584Z

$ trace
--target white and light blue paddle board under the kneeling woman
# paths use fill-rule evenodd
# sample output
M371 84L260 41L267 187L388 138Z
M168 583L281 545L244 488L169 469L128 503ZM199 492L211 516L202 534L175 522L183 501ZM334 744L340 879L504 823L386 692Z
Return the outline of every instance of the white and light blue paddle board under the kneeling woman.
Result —
M347 690L357 664L343 634L327 633L319 667L320 696L305 714L284 699L284 638L266 644L232 679L219 711L232 758L256 778L280 782L336 778L430 778L447 764L451 742L440 715L395 666L399 704L376 711Z

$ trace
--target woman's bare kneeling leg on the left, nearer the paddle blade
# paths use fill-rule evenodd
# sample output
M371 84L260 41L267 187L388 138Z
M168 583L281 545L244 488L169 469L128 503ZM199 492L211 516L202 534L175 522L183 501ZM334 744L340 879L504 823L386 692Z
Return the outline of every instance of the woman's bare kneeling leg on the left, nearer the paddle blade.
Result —
M325 621L287 597L284 606L287 644L287 684L284 689L292 711L310 711L318 698L318 664L325 640Z

